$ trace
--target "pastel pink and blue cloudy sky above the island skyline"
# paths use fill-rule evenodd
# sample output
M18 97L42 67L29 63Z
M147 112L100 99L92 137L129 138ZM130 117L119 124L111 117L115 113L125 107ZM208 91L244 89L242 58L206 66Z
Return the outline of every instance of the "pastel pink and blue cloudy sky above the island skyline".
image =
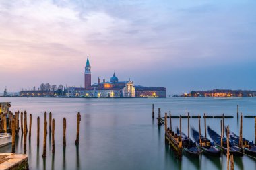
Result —
M92 82L256 90L256 1L0 1L0 92Z

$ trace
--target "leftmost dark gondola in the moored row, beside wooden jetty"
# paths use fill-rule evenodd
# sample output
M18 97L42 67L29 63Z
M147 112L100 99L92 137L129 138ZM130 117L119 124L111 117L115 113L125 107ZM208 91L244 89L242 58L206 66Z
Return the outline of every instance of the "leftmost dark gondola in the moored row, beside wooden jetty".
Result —
M180 135L180 130L177 128L177 135ZM199 157L200 151L197 148L195 142L191 140L191 138L188 138L183 132L181 133L181 140L182 140L182 147L183 151L186 153L189 153L189 155L193 155L196 157Z

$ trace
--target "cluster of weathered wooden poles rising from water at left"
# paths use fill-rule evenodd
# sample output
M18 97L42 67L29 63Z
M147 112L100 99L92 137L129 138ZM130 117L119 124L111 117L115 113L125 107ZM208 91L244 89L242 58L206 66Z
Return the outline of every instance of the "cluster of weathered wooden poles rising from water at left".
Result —
M20 120L19 120L20 114ZM6 116L3 118L4 130L7 132L7 123L6 123ZM19 127L20 122L20 127ZM77 133L76 133L76 140L75 144L79 144L79 132L80 132L80 122L81 122L81 114L77 113ZM66 146L66 118L63 118L63 146ZM29 120L29 131L27 127L27 112L15 112L15 115L12 112L9 112L9 128L11 129L12 134L12 149L11 152L15 153L15 138L19 134L19 130L21 128L22 135L24 135L24 154L26 154L26 146L27 146L27 133L28 133L28 140L31 140L31 126L32 126L32 114L30 114ZM44 140L43 140L43 153L42 157L46 157L46 138L47 138L47 113L44 112ZM52 119L52 113L49 113L49 135L52 137L52 153L55 153L55 119ZM37 117L37 146L40 144L40 117Z

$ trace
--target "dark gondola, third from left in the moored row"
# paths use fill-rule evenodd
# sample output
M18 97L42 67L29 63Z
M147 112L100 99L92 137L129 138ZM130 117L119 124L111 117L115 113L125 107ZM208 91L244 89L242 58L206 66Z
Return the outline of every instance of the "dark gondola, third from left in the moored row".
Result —
M222 149L224 153L227 153L227 140L225 137L222 137L223 146L221 148L221 137L219 134L217 134L214 130L212 130L209 126L207 127L208 134L210 138L214 141L215 146ZM243 150L239 148L238 146L234 146L232 142L229 141L229 153L230 155L241 157L243 156Z

